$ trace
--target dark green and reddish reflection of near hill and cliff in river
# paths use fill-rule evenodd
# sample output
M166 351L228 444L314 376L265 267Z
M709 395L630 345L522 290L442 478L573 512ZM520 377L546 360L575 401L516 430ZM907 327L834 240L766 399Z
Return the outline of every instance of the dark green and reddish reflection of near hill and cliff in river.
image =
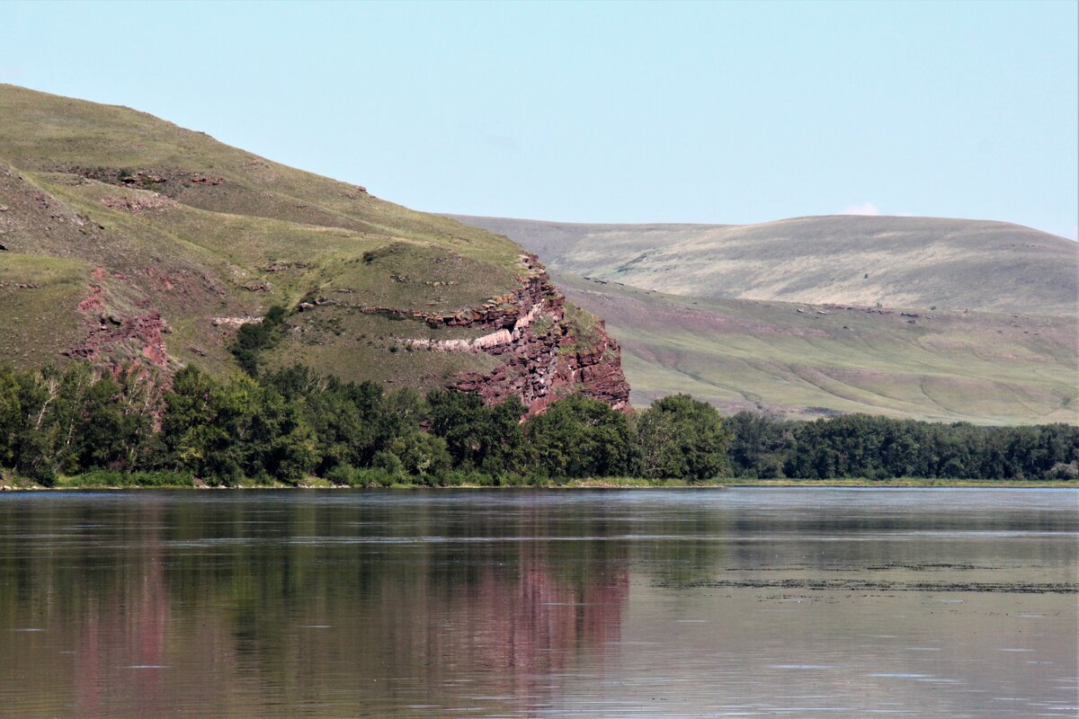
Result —
M283 710L326 703L319 716L402 701L475 706L477 692L518 711L550 697L551 675L602 663L628 602L627 545L599 535L536 541L543 516L475 541L470 520L437 513L415 526L414 516L311 504L52 510L33 534L80 539L50 548L52 561L32 564L9 605L45 628L49 644L29 647L27 665L50 666L39 694L55 702L50 716L165 716L182 705L246 717L251 693ZM449 539L428 540L432 524ZM94 526L108 529L70 530ZM410 536L390 537L391 527ZM4 555L25 556L5 551L10 541L0 537L0 571ZM0 649L19 638L3 634Z

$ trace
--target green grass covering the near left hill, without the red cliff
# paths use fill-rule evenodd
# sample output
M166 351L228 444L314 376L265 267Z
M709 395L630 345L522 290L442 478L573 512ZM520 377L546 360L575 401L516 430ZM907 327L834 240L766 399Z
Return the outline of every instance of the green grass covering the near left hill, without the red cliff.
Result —
M319 295L453 314L505 295L528 274L521 249L503 237L146 113L0 84L0 282L41 286L0 287L0 361L63 362L98 317L160 313L174 365L229 375L235 328L216 317L261 316ZM99 302L80 309L92 285ZM405 351L391 362L399 326L340 308L314 316L327 331L301 317L279 364L421 386L494 367ZM127 344L109 348L112 359L137 358L137 342Z

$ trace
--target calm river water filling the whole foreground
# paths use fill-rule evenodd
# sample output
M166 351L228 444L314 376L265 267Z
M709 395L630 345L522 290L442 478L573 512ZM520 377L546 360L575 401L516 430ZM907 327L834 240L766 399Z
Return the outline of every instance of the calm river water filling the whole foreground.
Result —
M0 717L1076 717L1079 492L0 495Z

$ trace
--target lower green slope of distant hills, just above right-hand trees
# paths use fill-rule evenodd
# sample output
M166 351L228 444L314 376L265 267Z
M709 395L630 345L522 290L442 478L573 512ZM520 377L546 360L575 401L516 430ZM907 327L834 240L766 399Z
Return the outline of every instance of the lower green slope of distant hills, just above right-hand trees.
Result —
M638 405L681 391L727 413L764 409L796 418L865 412L982 425L1077 421L1071 318L940 310L909 318L665 295L564 275L556 281L606 318Z

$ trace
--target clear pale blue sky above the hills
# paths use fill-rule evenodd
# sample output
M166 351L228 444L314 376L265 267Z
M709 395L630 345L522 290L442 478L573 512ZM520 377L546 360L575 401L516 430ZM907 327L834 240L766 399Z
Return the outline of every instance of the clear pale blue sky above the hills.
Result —
M1074 0L4 2L0 82L427 211L1076 239L1077 38Z

